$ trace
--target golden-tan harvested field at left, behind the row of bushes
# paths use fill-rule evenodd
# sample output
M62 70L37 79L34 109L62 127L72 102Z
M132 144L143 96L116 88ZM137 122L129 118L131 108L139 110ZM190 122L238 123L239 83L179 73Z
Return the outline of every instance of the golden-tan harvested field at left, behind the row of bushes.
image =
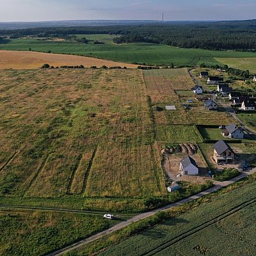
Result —
M84 67L97 66L102 67L127 67L137 68L138 65L129 63L121 63L109 60L100 60L97 58L90 58L84 56L75 56L68 54L52 54L43 52L26 52L26 51L0 51L0 68L13 68L13 69L29 69L39 68L44 63L48 63L54 67L64 65L76 66L84 65Z

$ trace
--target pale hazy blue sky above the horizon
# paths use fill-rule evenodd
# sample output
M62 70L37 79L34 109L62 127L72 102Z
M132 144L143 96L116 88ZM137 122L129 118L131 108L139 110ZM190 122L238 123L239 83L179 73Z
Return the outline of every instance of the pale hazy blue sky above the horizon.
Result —
M256 0L0 0L0 22L256 19Z

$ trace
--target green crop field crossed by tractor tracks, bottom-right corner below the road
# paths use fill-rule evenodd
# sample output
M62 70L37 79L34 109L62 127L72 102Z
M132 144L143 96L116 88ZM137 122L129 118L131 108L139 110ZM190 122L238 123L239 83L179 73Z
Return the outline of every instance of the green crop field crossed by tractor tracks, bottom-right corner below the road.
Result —
M254 255L255 189L253 182L205 199L196 208L131 236L100 255Z

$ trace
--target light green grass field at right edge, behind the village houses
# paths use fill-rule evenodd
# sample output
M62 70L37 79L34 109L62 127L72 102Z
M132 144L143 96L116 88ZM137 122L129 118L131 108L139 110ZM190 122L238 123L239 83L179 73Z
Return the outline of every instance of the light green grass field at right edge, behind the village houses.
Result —
M228 67L250 70L251 73L256 74L255 58L216 58L216 61L227 64Z

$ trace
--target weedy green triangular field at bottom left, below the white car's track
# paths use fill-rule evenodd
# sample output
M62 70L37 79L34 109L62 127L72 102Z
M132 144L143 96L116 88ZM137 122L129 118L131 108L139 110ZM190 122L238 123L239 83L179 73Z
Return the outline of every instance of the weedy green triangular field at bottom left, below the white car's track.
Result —
M3 209L0 255L45 255L116 223L85 214Z

